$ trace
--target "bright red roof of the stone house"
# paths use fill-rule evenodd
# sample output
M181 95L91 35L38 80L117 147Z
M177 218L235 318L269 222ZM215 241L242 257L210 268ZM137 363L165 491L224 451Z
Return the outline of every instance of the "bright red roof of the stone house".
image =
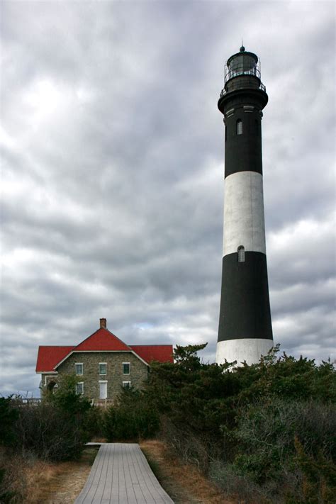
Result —
M147 364L152 361L174 362L172 345L131 345L130 347L119 340L116 335L101 327L94 334L87 337L77 347L38 347L38 362L36 372L46 373L55 371L55 368L71 352L135 352Z

